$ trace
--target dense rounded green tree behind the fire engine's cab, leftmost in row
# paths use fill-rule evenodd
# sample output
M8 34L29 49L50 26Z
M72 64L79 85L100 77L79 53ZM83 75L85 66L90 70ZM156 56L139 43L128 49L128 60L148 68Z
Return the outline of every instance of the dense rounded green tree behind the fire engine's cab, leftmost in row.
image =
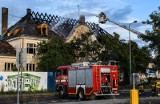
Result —
M75 61L71 46L58 36L39 43L37 51L38 69L41 71L54 71L58 66Z

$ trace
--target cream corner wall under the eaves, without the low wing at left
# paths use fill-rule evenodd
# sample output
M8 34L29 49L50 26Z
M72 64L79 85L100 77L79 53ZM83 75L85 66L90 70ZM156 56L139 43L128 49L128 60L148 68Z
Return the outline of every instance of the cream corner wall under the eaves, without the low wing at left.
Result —
M17 67L19 67L19 59L21 58L24 71L36 71L36 46L43 40L47 41L48 39L23 36L7 40L16 49L16 57L18 58L16 61ZM21 51L23 56L19 57L18 53Z

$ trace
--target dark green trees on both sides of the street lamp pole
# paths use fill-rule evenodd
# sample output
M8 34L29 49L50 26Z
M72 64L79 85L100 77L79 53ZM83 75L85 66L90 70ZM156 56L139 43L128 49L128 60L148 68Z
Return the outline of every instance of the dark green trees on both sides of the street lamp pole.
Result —
M125 83L129 82L129 44L125 40L121 40L119 34L100 35L98 37L100 44L105 50L100 55L102 61L116 60L118 61L119 71L125 74ZM150 62L150 52L148 48L139 48L137 43L131 41L132 44L132 72L145 71Z

